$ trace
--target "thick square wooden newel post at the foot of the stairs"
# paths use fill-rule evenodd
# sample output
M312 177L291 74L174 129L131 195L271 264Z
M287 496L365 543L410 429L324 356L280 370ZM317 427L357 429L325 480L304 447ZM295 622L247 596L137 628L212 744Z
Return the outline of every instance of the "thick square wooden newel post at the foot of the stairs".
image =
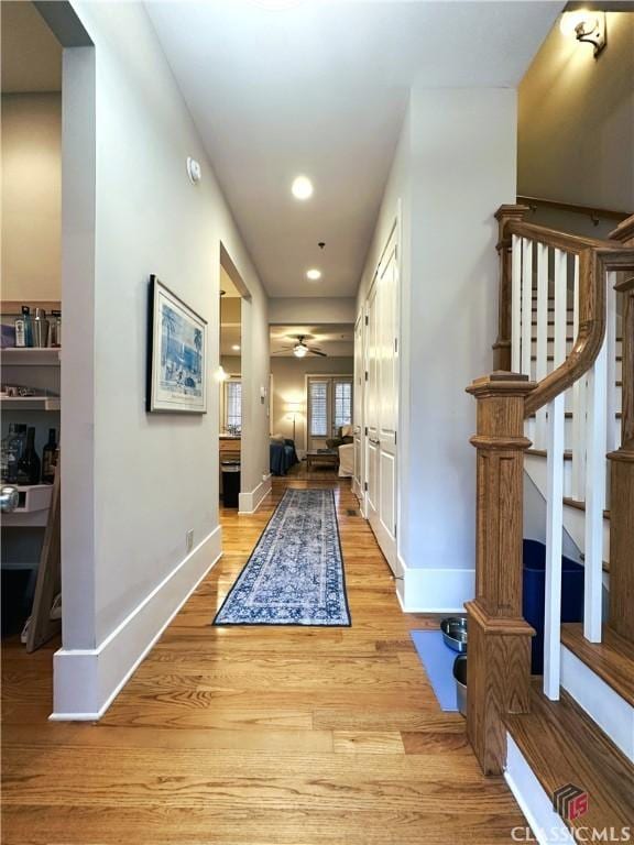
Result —
M533 628L522 617L525 375L494 372L468 393L478 400L476 599L469 615L467 733L487 775L503 770L506 713L527 713Z

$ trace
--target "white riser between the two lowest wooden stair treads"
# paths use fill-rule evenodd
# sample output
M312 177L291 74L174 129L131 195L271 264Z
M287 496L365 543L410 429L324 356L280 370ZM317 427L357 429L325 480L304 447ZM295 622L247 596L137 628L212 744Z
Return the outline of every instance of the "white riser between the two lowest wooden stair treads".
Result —
M634 762L634 707L566 646L561 646L561 687Z

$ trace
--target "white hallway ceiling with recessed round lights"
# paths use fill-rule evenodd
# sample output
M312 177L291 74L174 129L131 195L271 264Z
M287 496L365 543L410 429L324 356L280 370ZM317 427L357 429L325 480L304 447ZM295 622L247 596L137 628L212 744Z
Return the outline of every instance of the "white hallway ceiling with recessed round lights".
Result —
M269 294L351 296L409 86L515 86L562 3L280 6L146 2Z

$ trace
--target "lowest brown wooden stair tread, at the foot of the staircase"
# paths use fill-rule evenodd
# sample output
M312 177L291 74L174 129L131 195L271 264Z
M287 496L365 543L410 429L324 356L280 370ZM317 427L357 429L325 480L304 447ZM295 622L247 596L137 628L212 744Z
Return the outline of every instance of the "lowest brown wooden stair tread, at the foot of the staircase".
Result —
M588 828L631 826L634 768L616 746L565 692L555 702L534 687L531 707L507 716L506 726L539 784L550 799L566 784L588 793L587 812L565 819L568 828L588 836Z

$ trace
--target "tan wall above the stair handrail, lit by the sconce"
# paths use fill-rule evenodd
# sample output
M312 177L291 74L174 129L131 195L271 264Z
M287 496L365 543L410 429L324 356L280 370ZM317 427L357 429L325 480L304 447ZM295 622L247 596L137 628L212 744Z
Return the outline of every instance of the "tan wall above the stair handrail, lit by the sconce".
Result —
M520 86L518 193L634 210L634 14L606 14L608 44L559 20Z

